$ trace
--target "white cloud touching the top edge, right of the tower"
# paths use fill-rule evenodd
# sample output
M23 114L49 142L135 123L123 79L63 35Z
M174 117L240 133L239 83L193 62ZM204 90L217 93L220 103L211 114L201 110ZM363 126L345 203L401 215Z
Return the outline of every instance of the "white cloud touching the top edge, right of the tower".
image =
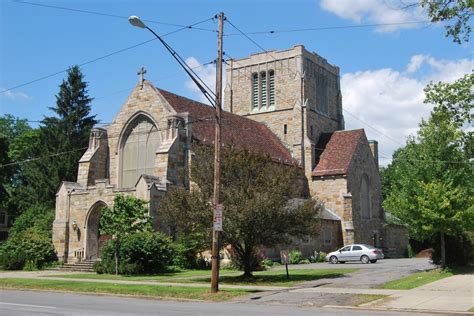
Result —
M420 6L403 8L400 0L321 0L322 9L355 23L407 23L426 20ZM398 24L377 27L379 32L393 32L414 28L420 24Z

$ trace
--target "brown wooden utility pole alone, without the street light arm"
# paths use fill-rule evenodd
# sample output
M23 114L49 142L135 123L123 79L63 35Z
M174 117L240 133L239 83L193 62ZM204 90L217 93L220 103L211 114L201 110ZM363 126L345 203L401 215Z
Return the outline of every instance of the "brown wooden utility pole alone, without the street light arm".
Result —
M219 234L222 229L222 213L217 216L217 209L222 212L219 193L221 189L221 107L222 107L222 35L224 30L224 13L218 15L219 31L217 34L217 60L216 60L216 134L214 140L214 220L212 228L212 272L211 293L219 291ZM217 227L220 221L220 229Z

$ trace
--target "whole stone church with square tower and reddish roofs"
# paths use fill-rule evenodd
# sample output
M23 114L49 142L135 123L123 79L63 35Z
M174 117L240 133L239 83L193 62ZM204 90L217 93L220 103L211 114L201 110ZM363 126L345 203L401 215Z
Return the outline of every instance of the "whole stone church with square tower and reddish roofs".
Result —
M309 255L366 243L403 255L405 228L384 222L377 142L363 129L344 130L339 68L296 45L232 60L226 71L223 143L298 166L310 195L325 204L321 233L293 246ZM116 194L149 201L158 228L160 199L189 181L183 175L193 161L192 145L213 139L212 107L153 86L141 71L112 123L92 130L77 182L63 182L57 192L58 257L99 257L106 239L99 233L101 209Z

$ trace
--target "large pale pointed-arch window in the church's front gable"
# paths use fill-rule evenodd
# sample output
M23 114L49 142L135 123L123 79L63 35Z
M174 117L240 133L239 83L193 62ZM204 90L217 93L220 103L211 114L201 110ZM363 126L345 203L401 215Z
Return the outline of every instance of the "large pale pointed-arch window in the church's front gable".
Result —
M142 174L153 174L160 134L145 115L130 123L121 145L120 179L122 188L135 186Z

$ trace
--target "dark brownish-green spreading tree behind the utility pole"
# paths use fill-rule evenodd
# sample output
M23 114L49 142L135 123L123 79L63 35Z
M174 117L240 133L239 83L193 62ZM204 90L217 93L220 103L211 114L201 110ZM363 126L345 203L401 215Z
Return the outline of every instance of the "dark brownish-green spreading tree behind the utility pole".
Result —
M213 151L206 146L197 146L194 150L191 179L198 189L194 193L171 192L176 197L169 196L165 200L173 199L176 203L173 208L163 207L161 212L174 212L176 222L186 222L185 226L188 221L196 220L197 230L210 236ZM261 259L258 253L262 247L284 243L289 236L318 232L319 204L308 200L288 207L291 198L306 196L304 183L304 175L298 169L275 163L267 156L230 147L222 151L220 200L224 204L224 219L221 241L231 245L233 259L246 276L251 276L258 267ZM180 204L180 201L186 202ZM201 214L178 216L188 213ZM178 230L179 225L175 225Z

